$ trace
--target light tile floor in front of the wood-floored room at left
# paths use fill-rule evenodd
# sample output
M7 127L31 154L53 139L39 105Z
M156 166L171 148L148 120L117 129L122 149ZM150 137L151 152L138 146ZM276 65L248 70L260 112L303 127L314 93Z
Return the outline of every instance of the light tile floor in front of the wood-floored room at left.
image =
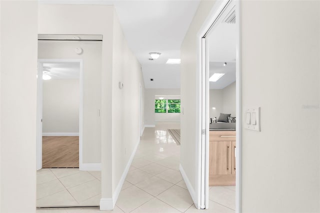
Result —
M36 205L98 206L101 172L78 168L42 168L37 171Z

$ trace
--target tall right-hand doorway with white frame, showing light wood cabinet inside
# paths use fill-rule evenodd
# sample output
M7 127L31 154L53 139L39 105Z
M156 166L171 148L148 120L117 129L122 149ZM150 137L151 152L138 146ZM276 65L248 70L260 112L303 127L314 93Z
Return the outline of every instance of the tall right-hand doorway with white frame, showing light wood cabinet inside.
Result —
M201 37L201 205L230 212L239 207L240 188L237 8L234 0L217 3Z

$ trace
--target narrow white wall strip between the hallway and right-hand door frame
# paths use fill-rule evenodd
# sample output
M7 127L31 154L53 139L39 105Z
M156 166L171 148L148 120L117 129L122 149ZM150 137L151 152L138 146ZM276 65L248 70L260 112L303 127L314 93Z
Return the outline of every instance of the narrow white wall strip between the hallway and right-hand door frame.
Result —
M180 165L187 175L190 182L189 192L192 198L197 198L197 170L195 158L197 150L197 108L196 103L200 99L196 98L196 33L201 27L207 14L209 13L215 1L201 1L194 14L193 20L181 44L181 107L184 113L181 113L181 147L180 147ZM196 200L194 200L196 202Z

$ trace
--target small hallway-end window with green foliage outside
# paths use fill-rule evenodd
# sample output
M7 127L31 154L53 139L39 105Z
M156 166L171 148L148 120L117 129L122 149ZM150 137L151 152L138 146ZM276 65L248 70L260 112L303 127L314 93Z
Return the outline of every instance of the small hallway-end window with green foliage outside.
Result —
M162 99L154 100L155 113L180 113L180 100L179 99Z

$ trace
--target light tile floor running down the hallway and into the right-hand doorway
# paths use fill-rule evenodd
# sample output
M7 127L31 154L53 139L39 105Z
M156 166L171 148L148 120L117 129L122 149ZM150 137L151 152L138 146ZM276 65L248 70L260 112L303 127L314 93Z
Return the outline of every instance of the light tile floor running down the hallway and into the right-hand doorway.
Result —
M168 128L179 128L179 124L161 123L157 124L155 128L145 128L112 212L234 213L234 186L209 187L209 209L195 208L179 172L180 146L176 145L167 133L166 129ZM183 141L181 142L183 143ZM92 174L92 176L94 175ZM47 181L52 180L51 178L50 175L43 177ZM67 178L64 179L64 182L72 188L72 182ZM83 198L78 199L83 200ZM99 209L37 209L36 212L81 213L96 211Z

